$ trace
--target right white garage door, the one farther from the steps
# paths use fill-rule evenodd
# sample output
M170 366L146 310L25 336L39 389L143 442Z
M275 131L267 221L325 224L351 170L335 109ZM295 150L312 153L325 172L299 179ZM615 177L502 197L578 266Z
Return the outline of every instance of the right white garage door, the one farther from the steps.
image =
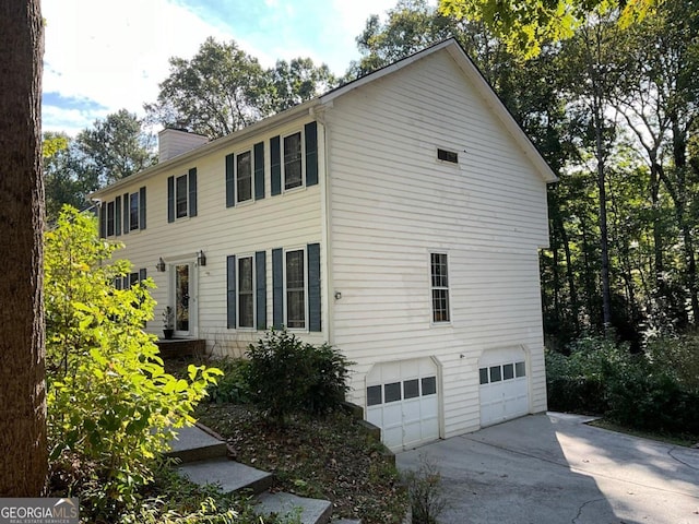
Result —
M529 413L526 358L521 348L486 352L478 365L481 426L491 426Z

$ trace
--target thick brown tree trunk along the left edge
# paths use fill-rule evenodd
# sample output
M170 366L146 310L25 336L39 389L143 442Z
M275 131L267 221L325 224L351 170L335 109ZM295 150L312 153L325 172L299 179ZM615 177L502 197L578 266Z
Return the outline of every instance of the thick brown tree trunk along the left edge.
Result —
M37 497L48 468L44 370L39 0L0 2L0 497Z

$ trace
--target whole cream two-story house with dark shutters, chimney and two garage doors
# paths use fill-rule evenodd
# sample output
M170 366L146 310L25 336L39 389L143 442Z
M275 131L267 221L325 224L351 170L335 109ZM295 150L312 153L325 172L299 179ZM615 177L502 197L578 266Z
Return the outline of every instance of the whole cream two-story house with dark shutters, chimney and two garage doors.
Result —
M454 40L94 196L176 336L242 355L269 326L356 362L392 450L546 409L540 248L556 177Z

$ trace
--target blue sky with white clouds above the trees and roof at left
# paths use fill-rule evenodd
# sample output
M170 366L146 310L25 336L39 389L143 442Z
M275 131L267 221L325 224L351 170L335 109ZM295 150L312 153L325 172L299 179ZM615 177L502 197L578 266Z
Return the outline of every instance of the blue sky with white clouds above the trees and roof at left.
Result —
M396 0L43 0L43 130L75 135L127 109L143 116L169 74L209 36L234 39L263 67L310 57L342 75L355 38Z

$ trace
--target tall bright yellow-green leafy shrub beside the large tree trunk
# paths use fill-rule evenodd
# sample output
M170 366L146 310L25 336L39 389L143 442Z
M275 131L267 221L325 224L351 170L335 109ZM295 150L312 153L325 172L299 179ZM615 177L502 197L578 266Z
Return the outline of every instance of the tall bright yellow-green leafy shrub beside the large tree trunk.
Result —
M192 409L220 373L203 366L189 366L188 380L164 372L155 336L143 331L153 319L152 283L114 287L130 271L126 261L107 262L118 248L70 207L46 234L50 456L79 464L80 484L98 487L93 503L105 513L134 502L173 428L193 421Z

